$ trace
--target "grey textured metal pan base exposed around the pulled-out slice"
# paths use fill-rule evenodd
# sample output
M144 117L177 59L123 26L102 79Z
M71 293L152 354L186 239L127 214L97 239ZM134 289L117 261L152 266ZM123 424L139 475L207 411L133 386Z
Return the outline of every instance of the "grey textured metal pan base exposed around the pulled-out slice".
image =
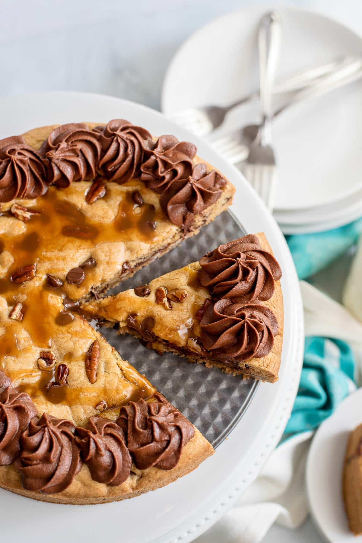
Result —
M221 243L245 235L229 212L222 213L205 226L198 236L187 239L168 254L139 270L131 279L111 291L111 294L144 285L154 277L200 260L206 252ZM186 358L165 353L157 355L146 349L132 336L117 336L116 330L101 332L120 355L144 374L157 389L187 416L208 441L217 447L232 431L245 413L258 381L243 380L242 376L224 374L218 368L190 364Z

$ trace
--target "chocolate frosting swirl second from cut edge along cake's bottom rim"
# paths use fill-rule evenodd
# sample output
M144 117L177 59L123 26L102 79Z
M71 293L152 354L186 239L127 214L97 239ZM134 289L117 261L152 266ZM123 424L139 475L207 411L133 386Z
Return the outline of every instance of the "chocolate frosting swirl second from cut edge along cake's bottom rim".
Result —
M87 428L77 428L75 441L92 479L115 487L129 477L131 455L125 446L122 429L108 419L93 416Z

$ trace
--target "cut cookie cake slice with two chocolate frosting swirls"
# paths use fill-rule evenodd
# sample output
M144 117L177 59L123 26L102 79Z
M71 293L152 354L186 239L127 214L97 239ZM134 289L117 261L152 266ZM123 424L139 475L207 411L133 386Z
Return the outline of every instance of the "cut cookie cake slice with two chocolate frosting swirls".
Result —
M275 382L283 342L281 275L264 234L247 235L82 311L159 353Z

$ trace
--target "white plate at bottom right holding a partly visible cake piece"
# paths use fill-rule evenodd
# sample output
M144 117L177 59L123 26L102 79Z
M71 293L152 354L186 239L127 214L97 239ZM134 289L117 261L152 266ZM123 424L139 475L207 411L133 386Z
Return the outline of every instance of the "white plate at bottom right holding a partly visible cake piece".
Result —
M342 500L342 467L348 434L362 422L362 389L348 396L320 426L310 446L306 481L310 512L332 543L360 542L348 530Z

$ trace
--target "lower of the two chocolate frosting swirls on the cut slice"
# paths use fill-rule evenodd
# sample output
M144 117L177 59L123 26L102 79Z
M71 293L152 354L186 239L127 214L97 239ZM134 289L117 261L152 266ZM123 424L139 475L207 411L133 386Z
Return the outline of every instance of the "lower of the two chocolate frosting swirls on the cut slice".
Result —
M227 298L206 308L200 326L205 349L223 361L245 362L268 355L278 333L276 317L268 307Z

